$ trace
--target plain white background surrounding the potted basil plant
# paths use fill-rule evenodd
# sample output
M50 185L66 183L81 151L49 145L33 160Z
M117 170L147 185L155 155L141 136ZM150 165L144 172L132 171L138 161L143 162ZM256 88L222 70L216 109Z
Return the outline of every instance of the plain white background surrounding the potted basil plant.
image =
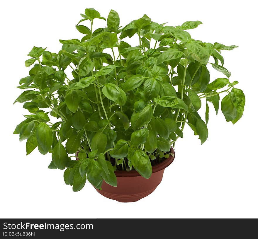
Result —
M3 6L4 4L4 6ZM257 6L255 1L5 1L1 6L1 197L2 218L257 218ZM107 17L118 11L120 25L147 14L152 21L181 25L202 21L189 30L204 42L238 45L223 51L224 66L246 96L245 112L235 125L210 105L209 137L201 146L185 127L176 158L157 189L134 203L98 194L88 183L80 192L65 185L63 171L48 169L51 155L37 150L26 156L26 140L13 130L27 114L12 105L28 75L30 49L61 49L59 39L81 38L76 23L85 8ZM84 22L85 23L85 22ZM96 20L95 28L106 23ZM135 43L135 45L137 42ZM211 67L211 81L223 77ZM203 104L204 105L204 104ZM205 106L203 106L205 108ZM203 114L202 114L203 116Z

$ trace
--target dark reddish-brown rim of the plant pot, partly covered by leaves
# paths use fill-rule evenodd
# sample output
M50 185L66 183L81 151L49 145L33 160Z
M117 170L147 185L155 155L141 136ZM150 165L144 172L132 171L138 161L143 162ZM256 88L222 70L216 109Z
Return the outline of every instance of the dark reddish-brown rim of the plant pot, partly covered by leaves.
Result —
M152 167L152 173L156 173L162 169L167 168L174 161L175 151L173 147L171 147L170 153L172 153L174 156L170 155L169 158L165 159L157 165L154 165ZM114 173L116 174L116 177L142 177L136 170L131 170L129 172L116 170Z

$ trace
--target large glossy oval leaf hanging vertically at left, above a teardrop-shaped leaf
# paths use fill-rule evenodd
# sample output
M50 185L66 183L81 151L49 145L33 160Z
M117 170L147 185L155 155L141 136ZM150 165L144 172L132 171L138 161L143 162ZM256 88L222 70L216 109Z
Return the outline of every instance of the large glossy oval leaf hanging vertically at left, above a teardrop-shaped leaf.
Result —
M52 145L52 131L46 123L40 122L40 124L37 126L36 138L37 138L38 146L40 146L40 148L44 152L47 152L50 150Z

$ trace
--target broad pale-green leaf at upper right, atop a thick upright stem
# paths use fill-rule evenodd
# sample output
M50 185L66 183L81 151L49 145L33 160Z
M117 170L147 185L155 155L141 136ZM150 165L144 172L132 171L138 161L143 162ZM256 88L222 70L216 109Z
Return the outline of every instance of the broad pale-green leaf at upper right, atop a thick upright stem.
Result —
M210 59L210 51L207 47L202 47L198 43L191 42L186 43L186 48L189 50L193 59L204 65L208 63Z

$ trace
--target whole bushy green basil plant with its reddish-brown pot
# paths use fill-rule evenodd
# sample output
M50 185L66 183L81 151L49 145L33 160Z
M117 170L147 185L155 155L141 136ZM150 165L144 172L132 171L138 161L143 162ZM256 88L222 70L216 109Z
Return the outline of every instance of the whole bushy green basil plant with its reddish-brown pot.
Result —
M27 155L36 147L52 153L49 168L65 170L73 191L87 178L108 198L137 201L162 180L185 125L206 141L209 107L218 113L220 94L226 121L242 117L245 95L229 81L220 54L237 46L192 39L186 30L200 21L173 27L144 15L121 28L111 10L107 27L94 30L94 19L106 19L93 8L81 16L81 40L60 40L58 53L33 47L28 54L32 67L15 102L30 114L14 134L27 139ZM139 45L125 41L131 37ZM225 76L210 80L208 64Z

